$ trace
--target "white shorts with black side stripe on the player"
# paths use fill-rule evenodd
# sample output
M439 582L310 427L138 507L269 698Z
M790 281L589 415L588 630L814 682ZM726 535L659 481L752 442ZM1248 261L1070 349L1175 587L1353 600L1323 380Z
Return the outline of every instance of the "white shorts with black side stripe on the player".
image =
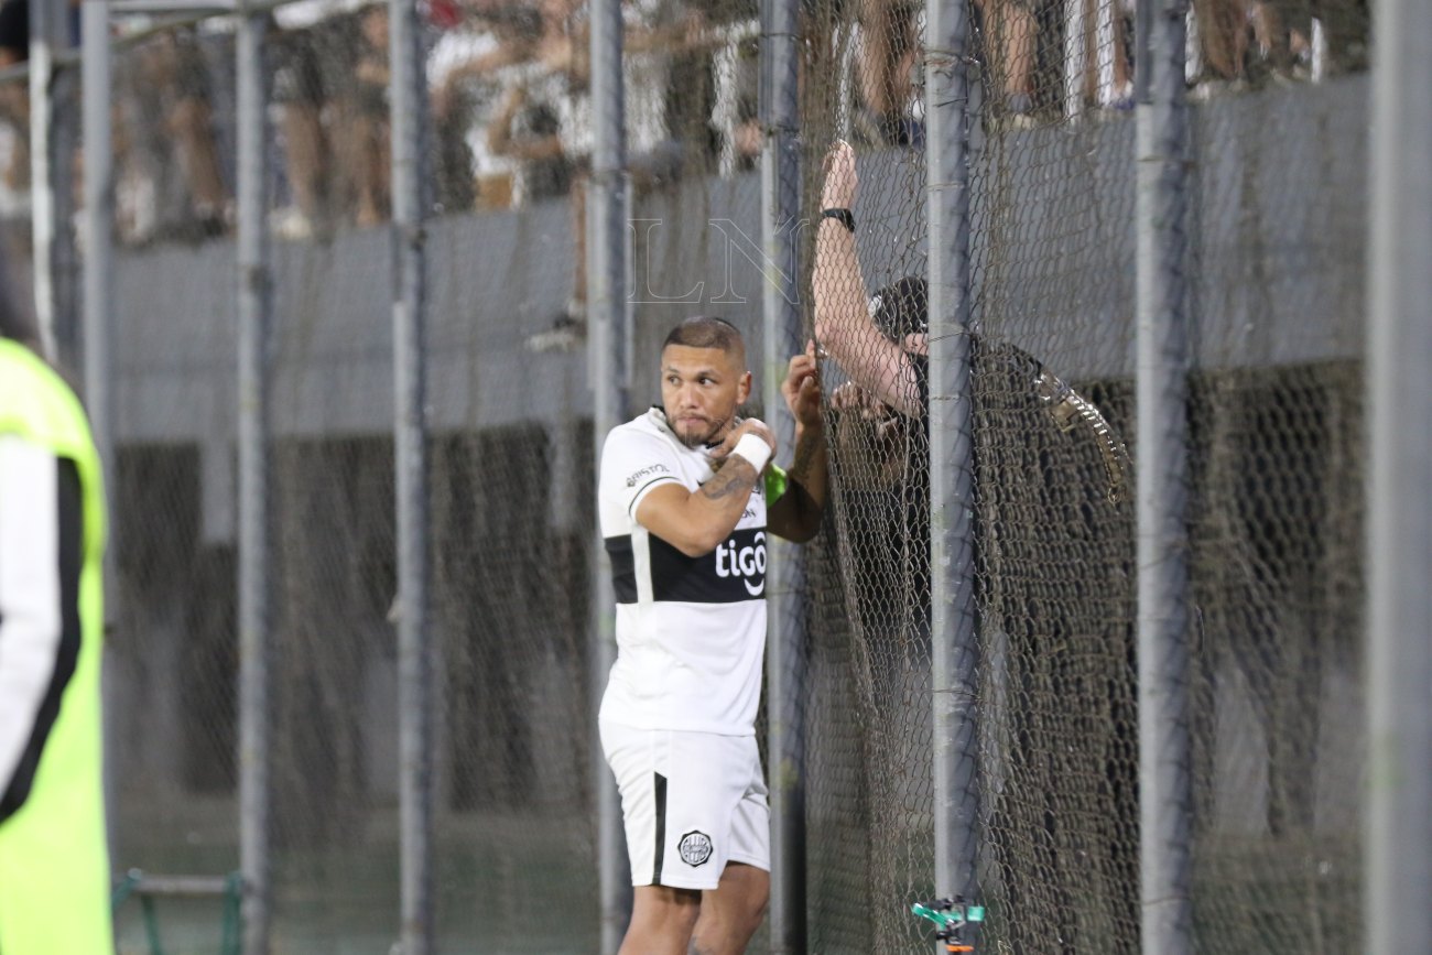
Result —
M632 885L715 889L727 862L770 871L755 736L600 727L621 792Z

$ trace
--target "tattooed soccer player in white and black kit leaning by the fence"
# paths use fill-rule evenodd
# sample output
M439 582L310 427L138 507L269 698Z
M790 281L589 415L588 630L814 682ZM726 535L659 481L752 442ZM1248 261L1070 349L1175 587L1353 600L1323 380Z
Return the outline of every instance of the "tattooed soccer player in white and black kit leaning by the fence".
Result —
M662 346L662 407L611 430L597 507L611 556L617 661L601 745L621 790L632 883L623 955L743 952L770 886L755 719L766 639L766 534L821 527L826 452L815 348L780 387L795 461L739 418L740 332L692 318Z

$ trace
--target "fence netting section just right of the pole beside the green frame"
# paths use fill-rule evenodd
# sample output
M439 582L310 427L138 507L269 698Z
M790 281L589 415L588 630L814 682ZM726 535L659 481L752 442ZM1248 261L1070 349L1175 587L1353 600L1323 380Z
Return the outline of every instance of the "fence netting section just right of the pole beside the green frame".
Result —
M294 4L265 43L274 229L275 938L398 935L388 42L381 4Z

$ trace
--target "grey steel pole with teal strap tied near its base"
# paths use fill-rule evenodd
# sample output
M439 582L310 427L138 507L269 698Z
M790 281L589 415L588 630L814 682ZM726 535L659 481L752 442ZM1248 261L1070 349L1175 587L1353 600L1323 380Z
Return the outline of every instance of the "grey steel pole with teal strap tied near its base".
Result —
M929 0L925 10L935 892L968 899L975 893L979 815L969 374L969 4Z

